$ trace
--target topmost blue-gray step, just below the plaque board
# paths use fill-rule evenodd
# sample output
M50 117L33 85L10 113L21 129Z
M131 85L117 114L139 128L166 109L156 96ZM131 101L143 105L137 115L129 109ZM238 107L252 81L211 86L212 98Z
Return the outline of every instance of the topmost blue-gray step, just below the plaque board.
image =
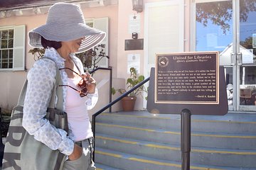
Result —
M97 117L98 123L116 123L139 125L166 130L181 129L181 115L151 114L146 111L102 113ZM192 115L191 131L254 134L256 132L256 115L228 113L227 115Z

